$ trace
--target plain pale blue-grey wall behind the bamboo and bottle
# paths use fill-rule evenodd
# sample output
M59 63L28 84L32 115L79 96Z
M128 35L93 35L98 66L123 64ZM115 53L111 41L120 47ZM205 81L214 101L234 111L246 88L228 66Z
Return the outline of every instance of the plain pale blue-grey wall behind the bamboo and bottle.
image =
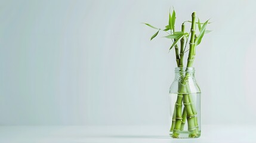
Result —
M1 125L168 125L164 28L211 18L194 67L203 125L255 126L255 1L1 1ZM189 30L189 26L187 29Z

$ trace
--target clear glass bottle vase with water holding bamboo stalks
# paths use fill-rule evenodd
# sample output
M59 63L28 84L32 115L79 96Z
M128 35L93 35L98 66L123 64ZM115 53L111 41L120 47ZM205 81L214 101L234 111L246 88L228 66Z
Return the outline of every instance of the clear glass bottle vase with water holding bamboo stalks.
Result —
M201 90L193 67L175 68L169 89L172 138L199 138L201 135Z

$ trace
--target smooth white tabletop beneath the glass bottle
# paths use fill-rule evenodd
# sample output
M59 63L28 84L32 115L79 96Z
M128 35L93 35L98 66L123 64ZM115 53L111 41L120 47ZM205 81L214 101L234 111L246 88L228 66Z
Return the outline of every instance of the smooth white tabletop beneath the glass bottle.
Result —
M256 126L203 125L197 139L172 139L165 126L0 126L0 142L256 142Z

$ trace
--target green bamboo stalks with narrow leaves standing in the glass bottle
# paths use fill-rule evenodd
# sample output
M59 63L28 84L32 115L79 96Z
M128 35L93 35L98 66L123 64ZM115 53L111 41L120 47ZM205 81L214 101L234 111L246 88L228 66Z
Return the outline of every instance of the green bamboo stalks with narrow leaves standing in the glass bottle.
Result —
M208 20L205 23L201 23L199 18L196 17L196 12L192 13L192 21L184 21L181 25L181 31L175 31L175 11L172 11L172 14L169 13L169 21L168 25L165 26L165 29L158 29L148 23L144 23L153 29L158 29L158 31L150 38L152 40L155 38L159 31L163 31L168 33L165 38L169 38L172 41L172 45L169 48L171 50L173 47L175 48L175 58L177 67L183 67L183 58L184 54L189 51L189 55L187 58L186 67L192 67L193 61L196 55L196 46L201 43L203 35L205 33L209 33L209 30L206 30L206 25L208 24ZM196 21L198 20L198 21ZM185 24L191 23L190 32L185 32ZM197 26L196 26L197 25ZM196 27L198 27L199 35L196 35ZM190 38L190 39L189 39ZM189 41L189 49L186 50L187 42ZM180 42L180 46L178 46L178 42ZM197 138L200 136L200 132L198 129L198 119L197 119L197 111L195 105L192 101L192 95L190 94L190 88L187 84L187 78L189 78L189 73L182 77L181 82L178 83L178 94L177 100L175 101L175 108L172 115L172 123L170 132L172 132L172 138L179 138L180 131L184 129L184 125L187 122L189 137ZM184 107L183 107L184 105ZM183 108L182 108L183 107ZM183 109L183 110L182 110Z

